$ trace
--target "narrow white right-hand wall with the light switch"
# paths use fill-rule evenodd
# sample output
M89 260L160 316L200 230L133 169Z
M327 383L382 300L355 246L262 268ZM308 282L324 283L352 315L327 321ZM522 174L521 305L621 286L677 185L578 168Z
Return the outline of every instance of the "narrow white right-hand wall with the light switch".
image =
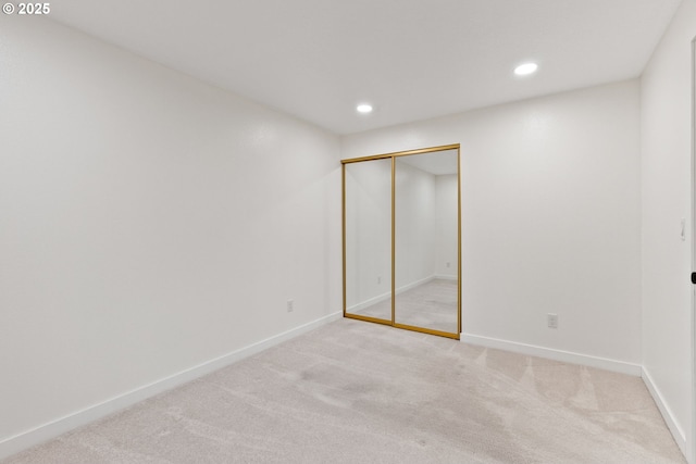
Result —
M684 447L692 424L691 40L696 3L684 1L641 80L643 364ZM682 241L681 218L688 223ZM692 456L691 462L696 462Z

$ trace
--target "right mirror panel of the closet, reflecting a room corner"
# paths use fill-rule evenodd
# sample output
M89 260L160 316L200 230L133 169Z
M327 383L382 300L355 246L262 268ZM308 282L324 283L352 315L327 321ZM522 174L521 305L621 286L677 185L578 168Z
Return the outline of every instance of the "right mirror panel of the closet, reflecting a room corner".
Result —
M395 323L459 334L459 150L396 158Z

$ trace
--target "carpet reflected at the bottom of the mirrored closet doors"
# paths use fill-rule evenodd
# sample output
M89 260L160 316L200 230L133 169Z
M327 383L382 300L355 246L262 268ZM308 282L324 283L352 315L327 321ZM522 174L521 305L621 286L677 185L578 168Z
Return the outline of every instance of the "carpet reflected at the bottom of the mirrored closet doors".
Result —
M391 321L391 299L356 314ZM433 279L396 296L396 322L457 333L457 280Z

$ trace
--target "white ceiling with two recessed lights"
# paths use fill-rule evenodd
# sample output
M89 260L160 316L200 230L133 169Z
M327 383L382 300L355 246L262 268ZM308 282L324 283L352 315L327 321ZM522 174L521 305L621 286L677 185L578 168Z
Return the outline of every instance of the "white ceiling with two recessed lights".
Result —
M60 0L50 17L351 134L637 77L680 2Z

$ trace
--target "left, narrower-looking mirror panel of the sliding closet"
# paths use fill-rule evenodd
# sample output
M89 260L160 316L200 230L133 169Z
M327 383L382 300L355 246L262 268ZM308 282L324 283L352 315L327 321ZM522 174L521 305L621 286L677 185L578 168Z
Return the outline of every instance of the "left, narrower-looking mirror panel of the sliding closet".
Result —
M346 314L391 323L391 160L345 164Z

